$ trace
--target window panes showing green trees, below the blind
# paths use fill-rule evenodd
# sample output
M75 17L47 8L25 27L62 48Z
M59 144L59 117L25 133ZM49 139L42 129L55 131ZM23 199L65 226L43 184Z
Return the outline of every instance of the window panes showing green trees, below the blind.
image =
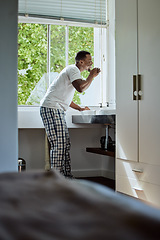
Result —
M95 51L100 49L100 28L19 23L18 29L18 105L39 105L49 84L66 65L74 64L80 50L89 51L95 66L101 67L101 54ZM84 79L87 76L88 72L82 73ZM101 102L97 78L85 93L75 93L77 104Z

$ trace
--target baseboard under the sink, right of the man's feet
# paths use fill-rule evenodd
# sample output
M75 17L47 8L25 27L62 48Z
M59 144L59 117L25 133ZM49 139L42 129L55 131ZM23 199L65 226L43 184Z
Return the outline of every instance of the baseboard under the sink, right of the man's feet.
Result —
M106 177L115 179L115 173L103 169L72 170L74 177Z

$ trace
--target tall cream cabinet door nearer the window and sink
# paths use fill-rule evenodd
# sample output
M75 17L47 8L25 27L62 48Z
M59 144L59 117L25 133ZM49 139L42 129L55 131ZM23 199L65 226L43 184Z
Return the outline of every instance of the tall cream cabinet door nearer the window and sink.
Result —
M137 74L137 1L116 0L116 154L138 159L138 101L133 101Z

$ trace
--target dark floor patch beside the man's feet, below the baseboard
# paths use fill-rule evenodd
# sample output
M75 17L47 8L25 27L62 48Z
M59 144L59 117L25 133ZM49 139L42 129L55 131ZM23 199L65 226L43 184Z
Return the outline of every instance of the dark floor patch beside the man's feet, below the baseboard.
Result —
M78 179L84 179L89 180L92 182L100 183L104 186L107 186L113 190L115 190L115 180L105 178L105 177L85 177L85 178L78 178Z

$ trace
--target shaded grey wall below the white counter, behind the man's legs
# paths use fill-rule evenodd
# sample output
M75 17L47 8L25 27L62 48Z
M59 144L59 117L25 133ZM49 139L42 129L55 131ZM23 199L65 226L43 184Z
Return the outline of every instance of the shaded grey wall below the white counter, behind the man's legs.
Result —
M69 128L71 164L74 176L105 176L114 179L115 159L86 152L86 147L100 147L105 128ZM19 157L26 161L26 170L44 169L45 131L19 129Z

